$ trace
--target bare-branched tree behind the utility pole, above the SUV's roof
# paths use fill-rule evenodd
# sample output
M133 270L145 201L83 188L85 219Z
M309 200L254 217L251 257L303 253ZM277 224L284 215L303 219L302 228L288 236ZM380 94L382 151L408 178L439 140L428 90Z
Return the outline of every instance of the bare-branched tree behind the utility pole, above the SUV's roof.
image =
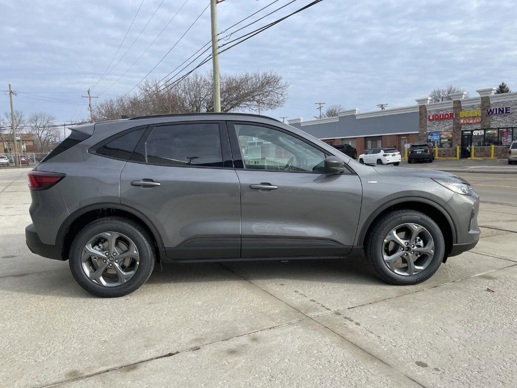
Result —
M279 108L287 99L289 85L274 72L224 74L221 76L221 111L262 111ZM121 115L213 112L211 73L192 73L179 83L146 80L139 92L98 102L94 121Z

